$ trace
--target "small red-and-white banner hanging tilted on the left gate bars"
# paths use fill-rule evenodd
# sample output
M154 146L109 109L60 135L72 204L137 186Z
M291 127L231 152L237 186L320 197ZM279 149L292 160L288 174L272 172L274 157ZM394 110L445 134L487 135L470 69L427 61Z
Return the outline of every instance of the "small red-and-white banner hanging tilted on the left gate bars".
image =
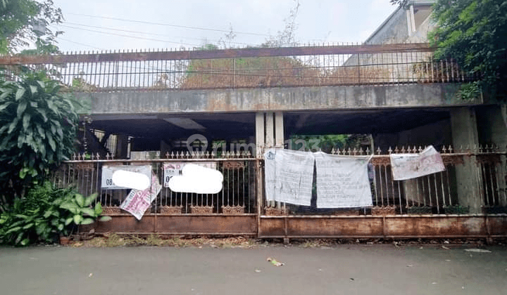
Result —
M120 205L120 208L129 212L140 221L144 212L149 208L151 202L154 201L161 189L162 186L158 183L157 177L152 175L151 188L146 188L146 190L131 190L125 201Z

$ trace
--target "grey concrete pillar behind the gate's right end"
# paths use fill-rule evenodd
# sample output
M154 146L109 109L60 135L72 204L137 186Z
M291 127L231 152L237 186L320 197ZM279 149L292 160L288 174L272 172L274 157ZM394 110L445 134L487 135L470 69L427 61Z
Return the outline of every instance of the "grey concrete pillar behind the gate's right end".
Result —
M454 149L470 149L479 146L477 118L472 107L456 107L451 110L451 131ZM458 203L470 206L471 214L482 212L482 174L475 156L465 156L465 163L456 165Z

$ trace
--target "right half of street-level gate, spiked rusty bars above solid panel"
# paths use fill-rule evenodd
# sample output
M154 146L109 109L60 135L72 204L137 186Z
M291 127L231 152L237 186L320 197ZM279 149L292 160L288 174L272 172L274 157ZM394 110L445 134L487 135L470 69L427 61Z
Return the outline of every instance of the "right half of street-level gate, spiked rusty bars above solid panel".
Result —
M506 152L496 147L453 150L442 147L445 171L406 181L394 181L391 153L418 153L423 147L389 148L375 151L370 167L373 207L318 209L312 206L266 201L263 214L268 216L327 215L406 215L406 214L506 214ZM333 150L334 155L371 155L370 150ZM467 175L466 181L460 179ZM314 181L315 185L315 181ZM313 192L313 204L317 198ZM473 207L475 206L475 211ZM477 210L478 209L478 210Z

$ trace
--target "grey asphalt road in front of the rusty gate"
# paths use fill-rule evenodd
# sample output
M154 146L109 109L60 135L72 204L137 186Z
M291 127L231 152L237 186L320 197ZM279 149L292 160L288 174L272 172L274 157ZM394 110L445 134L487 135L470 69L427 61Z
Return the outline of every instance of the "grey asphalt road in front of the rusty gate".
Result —
M507 294L507 247L420 247L0 247L0 294Z

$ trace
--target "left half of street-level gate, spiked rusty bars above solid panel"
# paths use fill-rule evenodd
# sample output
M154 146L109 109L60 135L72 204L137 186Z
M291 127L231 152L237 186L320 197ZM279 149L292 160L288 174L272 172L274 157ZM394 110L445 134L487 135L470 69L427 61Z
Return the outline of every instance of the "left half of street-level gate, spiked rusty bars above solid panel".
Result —
M182 168L185 164L213 163L223 173L223 189L217 194L196 194L173 192L163 185L164 164ZM163 187L146 214L255 214L256 173L258 160L244 153L212 157L211 155L169 155L166 159L128 160L128 159L84 159L75 157L65 162L54 174L53 181L59 187L73 185L81 194L98 193L97 201L104 206L104 214L126 214L120 204L129 194L129 189L108 189L102 181L104 166L150 165L158 183ZM204 181L196 179L196 182Z

